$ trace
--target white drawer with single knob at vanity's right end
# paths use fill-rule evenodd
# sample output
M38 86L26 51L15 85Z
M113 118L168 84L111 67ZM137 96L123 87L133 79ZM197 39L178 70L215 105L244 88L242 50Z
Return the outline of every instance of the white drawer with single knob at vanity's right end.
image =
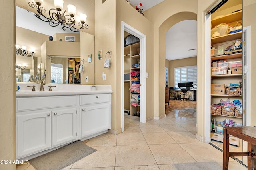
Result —
M110 102L110 94L80 95L80 105Z

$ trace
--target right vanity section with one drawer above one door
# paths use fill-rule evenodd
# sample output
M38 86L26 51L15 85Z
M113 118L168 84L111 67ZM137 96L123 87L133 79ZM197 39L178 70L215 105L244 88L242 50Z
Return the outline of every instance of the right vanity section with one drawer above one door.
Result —
M111 129L111 94L80 95L80 137Z

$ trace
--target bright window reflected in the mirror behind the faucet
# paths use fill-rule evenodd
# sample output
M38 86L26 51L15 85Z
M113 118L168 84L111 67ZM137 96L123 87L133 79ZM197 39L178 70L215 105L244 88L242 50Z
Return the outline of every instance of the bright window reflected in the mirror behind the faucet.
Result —
M63 83L63 65L51 64L51 83Z

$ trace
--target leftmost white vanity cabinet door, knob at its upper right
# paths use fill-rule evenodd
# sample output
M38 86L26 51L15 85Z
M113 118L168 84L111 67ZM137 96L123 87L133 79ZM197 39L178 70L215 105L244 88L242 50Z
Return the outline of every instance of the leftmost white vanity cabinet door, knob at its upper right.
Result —
M17 158L51 147L51 114L49 112L16 116Z

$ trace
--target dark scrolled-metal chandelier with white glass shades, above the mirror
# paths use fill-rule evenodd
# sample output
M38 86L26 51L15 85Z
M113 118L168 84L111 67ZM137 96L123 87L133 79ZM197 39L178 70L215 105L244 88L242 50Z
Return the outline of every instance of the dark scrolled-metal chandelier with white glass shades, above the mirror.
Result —
M38 14L34 14L36 18L48 22L52 27L61 25L64 31L66 28L74 32L78 32L80 29L89 28L89 26L85 24L87 18L86 14L80 14L80 22L74 19L74 16L76 15L76 6L69 4L67 6L68 14L66 14L66 10L64 12L62 11L63 0L54 0L55 8L51 8L49 10L49 16L45 16L46 10L41 6L43 1L44 0L35 0L36 3L28 2L30 7L36 8L36 11L38 12Z

